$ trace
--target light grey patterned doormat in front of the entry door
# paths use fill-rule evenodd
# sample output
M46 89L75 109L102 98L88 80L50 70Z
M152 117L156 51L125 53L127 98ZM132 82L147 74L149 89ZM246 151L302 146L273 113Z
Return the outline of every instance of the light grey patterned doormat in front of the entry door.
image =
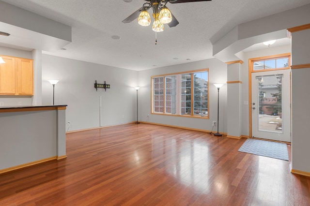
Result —
M238 151L280 160L289 160L287 146L285 143L280 142L247 139Z

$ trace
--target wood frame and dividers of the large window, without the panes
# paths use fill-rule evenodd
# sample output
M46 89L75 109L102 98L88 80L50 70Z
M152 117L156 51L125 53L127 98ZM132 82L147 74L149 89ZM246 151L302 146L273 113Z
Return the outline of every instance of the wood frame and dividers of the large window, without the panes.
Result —
M205 87L207 87L207 114L194 114L194 74L195 73L202 73L202 72L207 72L207 85ZM182 74L191 74L191 112L190 114L184 114L181 115L181 96L182 96L182 91L181 91L181 75ZM175 78L177 79L177 83L179 84L176 87L176 114L171 114L171 113L166 113L166 81L165 81L165 77L170 77L170 76L176 76ZM179 77L178 77L179 76ZM164 110L163 112L154 112L154 78L157 77L163 77L164 82L163 82L163 105L164 105ZM205 69L200 69L200 70L192 70L192 71L186 71L186 72L179 72L179 73L171 73L171 74L160 74L160 75L152 75L151 76L151 114L153 115L168 115L168 116L175 116L175 117L186 117L186 118L205 118L205 119L209 119L210 117L210 112L209 112L209 78L210 78L210 73L209 73L209 68L205 68Z

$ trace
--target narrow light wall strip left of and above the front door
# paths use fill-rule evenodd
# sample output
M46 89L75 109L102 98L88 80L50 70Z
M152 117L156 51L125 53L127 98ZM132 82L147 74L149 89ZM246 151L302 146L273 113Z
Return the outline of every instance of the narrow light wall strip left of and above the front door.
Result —
M265 57L277 54L291 53L291 45L279 46L279 47L267 47L266 49L246 52L244 53L244 63L242 64L241 70L241 81L242 81L242 103L243 101L248 101L250 104L251 101L248 99L248 59ZM242 105L242 134L249 135L249 124L248 124L248 105Z

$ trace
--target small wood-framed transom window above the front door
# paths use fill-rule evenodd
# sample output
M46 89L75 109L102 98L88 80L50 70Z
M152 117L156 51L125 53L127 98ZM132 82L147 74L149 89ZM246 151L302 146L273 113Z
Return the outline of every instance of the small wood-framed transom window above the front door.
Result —
M289 54L269 58L257 58L253 61L252 71L289 69L290 59Z

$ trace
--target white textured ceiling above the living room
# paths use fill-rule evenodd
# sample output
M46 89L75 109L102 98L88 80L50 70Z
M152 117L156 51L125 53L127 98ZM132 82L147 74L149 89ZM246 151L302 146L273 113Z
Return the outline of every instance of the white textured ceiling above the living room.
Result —
M155 32L124 24L144 0L2 0L72 27L72 43L45 54L141 71L212 58L212 43L238 24L310 3L310 0L212 0L168 3L180 22ZM153 20L152 20L153 22ZM121 39L115 40L111 36ZM285 41L283 41L285 42Z

